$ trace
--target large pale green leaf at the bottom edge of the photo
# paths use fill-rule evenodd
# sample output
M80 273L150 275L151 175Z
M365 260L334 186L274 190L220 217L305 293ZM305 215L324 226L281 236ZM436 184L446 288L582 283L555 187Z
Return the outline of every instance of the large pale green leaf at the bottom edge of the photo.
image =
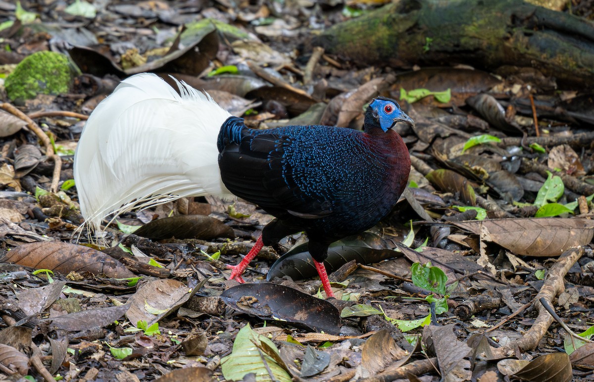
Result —
M231 354L221 359L223 377L226 380L238 381L249 372L253 372L257 381L270 381L272 377L278 382L291 382L289 373L262 350L261 343L266 343L268 349L274 351L276 355L279 354L277 347L267 337L255 333L249 324L242 327L235 337ZM271 376L264 361L270 369Z

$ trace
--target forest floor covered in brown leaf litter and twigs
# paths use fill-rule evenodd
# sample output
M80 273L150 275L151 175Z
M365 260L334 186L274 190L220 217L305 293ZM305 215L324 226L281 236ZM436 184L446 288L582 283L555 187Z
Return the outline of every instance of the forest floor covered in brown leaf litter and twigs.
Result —
M0 1L3 73L48 50L80 69L53 95L2 88L0 380L594 380L592 89L538 68L366 67L309 47L380 3ZM571 5L594 17L592 1ZM360 129L372 98L400 102L416 122L394 127L409 187L377 227L331 246L337 299L304 235L264 248L246 284L228 280L272 218L241 200L81 226L77 140L142 72L261 129Z

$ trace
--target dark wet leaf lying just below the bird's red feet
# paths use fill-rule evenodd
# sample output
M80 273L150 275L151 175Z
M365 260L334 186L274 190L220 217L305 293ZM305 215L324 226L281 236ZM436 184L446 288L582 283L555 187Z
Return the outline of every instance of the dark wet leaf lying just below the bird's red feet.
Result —
M240 284L220 295L233 309L263 320L282 320L330 334L340 333L340 315L330 302L273 284Z

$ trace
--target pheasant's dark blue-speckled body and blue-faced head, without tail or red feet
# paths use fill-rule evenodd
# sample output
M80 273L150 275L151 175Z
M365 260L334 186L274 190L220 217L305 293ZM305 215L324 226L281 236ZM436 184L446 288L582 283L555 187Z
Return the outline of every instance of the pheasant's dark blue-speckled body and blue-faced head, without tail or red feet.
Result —
M391 130L412 124L398 104L377 98L365 112L364 131L333 126L253 130L242 118L223 124L217 146L225 186L276 217L264 227L271 245L305 231L318 261L328 245L371 228L403 192L410 157Z

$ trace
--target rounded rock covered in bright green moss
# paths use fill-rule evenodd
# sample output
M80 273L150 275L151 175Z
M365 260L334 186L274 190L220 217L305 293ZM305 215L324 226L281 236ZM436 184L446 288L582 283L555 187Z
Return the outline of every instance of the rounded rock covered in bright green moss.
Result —
M38 94L64 94L78 73L78 68L65 55L36 52L17 65L4 87L12 101L35 98Z

